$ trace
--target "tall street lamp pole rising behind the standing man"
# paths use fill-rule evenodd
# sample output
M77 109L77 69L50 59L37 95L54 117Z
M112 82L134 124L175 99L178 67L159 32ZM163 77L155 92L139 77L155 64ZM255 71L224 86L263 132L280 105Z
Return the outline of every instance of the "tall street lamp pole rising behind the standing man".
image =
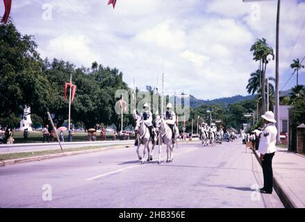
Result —
M242 0L243 2L251 1L270 1L270 0ZM274 0L273 0L274 1ZM275 119L277 120L277 144L279 144L279 15L281 12L281 0L277 0L277 37L275 46Z

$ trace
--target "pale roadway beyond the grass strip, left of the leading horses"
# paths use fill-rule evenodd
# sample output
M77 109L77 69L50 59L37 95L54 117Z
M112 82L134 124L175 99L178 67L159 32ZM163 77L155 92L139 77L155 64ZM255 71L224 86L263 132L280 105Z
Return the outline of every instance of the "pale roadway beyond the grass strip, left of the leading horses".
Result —
M62 143L63 148L78 148L85 146L106 146L110 144L128 145L133 144L133 140L116 140L113 141L96 141L96 142L65 142ZM0 144L0 154L4 153L20 153L59 149L58 142L53 143L33 143L33 144Z

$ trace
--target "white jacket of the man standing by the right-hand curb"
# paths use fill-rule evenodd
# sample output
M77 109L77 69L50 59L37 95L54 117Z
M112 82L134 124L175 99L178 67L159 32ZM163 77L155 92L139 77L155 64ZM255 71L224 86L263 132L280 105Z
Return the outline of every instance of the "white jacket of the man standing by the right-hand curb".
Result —
M274 123L268 123L261 134L258 152L262 154L277 152L276 144L277 128L274 126Z

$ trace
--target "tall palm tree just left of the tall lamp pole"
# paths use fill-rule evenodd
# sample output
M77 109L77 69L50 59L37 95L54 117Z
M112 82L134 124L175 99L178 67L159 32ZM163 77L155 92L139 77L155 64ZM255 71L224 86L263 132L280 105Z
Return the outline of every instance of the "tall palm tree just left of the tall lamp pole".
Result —
M268 62L271 60L269 56L272 56L272 60L274 60L274 53L272 47L267 45L266 39L262 38L258 39L252 45L250 51L253 51L253 60L260 61L260 71L261 71L261 88L265 89L265 72L267 68ZM261 90L262 97L262 113L266 111L266 103L265 103L265 90Z

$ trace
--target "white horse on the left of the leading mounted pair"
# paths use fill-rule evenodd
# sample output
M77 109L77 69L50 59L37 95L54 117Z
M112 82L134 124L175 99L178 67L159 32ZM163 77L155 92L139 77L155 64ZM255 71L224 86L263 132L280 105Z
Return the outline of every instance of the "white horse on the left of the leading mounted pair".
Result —
M145 155L146 151L148 154L147 162L152 160L152 151L154 150L154 145L151 148L151 153L149 153L149 142L151 141L151 137L149 135L149 129L145 125L144 121L141 117L133 111L133 119L136 119L135 133L137 133L136 139L138 140L137 154L139 160L142 160L142 164L145 163ZM139 154L140 145L144 145L143 157Z

